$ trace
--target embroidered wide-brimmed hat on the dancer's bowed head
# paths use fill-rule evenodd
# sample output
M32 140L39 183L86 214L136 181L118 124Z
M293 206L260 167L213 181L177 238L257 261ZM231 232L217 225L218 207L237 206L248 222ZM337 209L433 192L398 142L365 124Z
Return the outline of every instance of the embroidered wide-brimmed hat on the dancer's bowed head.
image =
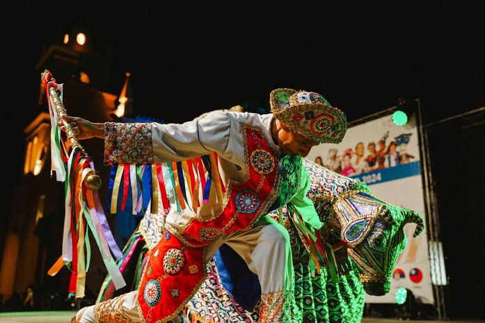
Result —
M344 113L320 94L276 89L269 94L273 115L291 131L323 143L339 143L347 131Z

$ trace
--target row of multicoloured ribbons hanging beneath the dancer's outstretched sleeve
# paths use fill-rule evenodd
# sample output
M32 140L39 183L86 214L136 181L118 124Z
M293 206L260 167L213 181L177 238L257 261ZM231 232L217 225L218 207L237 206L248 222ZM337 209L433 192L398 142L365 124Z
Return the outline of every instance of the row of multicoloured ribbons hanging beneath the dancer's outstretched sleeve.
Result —
M131 203L132 213L139 215L150 205L152 213L166 215L170 207L197 212L211 197L213 204L221 204L226 188L219 158L211 154L176 163L113 165L106 208L116 213Z

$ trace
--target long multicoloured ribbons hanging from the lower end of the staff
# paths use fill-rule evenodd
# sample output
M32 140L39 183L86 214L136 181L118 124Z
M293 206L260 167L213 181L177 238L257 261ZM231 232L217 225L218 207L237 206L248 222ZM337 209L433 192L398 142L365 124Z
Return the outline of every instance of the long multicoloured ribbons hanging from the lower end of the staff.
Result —
M109 229L97 191L89 190L84 185L86 176L95 170L93 161L83 156L80 149L73 149L66 168L63 255L48 274L54 276L62 265L67 265L71 270L70 295L84 297L92 253L90 233L100 249L106 269L113 276L114 286L116 289L122 288L126 283L111 256L113 253L116 258L122 258L122 253Z

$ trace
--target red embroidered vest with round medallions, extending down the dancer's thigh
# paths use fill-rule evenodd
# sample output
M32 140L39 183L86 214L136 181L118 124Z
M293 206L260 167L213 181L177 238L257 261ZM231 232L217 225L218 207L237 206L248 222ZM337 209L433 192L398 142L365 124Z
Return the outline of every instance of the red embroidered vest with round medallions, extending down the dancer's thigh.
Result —
M278 198L281 176L276 155L259 129L241 126L249 176L230 181L223 210L214 219L194 218L181 235L166 231L150 251L138 287L143 322L163 323L175 317L206 278L205 246L224 233L251 228Z

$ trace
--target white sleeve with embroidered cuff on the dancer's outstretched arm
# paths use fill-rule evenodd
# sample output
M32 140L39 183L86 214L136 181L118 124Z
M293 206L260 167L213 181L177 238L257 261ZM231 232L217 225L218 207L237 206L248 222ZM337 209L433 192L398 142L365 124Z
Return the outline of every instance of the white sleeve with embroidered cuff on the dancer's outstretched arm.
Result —
M104 162L168 163L210 154L223 156L231 129L228 113L216 111L184 124L106 122Z

